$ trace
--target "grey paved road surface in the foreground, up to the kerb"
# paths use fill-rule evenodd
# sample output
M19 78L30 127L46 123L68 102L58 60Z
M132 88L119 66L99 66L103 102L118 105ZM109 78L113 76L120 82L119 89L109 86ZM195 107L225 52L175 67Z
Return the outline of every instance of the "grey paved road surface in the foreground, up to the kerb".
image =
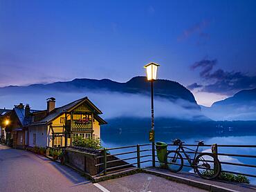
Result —
M72 169L52 162L46 157L0 145L0 191L161 192L202 190L145 173L108 180L95 185Z

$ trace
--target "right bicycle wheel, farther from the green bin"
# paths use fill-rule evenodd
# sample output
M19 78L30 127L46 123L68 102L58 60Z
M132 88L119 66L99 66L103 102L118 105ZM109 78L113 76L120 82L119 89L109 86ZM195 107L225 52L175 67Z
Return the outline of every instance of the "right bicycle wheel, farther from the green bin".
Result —
M196 173L204 179L212 180L221 173L221 163L212 153L201 153L194 162Z

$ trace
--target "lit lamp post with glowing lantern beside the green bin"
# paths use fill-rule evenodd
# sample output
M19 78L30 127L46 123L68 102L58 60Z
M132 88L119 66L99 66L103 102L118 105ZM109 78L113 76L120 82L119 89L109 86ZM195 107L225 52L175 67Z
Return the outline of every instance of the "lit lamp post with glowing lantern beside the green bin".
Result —
M150 63L145 65L147 71L147 80L151 83L151 131L149 133L149 141L152 142L152 166L156 166L155 160L155 134L154 134L154 86L156 80L158 64Z

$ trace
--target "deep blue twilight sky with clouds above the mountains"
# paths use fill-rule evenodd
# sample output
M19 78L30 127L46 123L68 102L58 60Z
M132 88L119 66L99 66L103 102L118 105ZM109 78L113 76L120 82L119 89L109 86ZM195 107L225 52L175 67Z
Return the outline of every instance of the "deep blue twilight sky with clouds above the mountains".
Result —
M199 104L256 88L256 1L0 0L0 86L145 75Z

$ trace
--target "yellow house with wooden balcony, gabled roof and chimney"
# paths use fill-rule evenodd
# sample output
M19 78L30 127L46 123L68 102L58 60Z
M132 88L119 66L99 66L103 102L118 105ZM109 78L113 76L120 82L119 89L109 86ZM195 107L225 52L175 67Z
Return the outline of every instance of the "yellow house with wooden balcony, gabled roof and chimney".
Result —
M46 110L30 112L28 146L70 146L76 136L100 138L100 125L107 124L101 114L88 97L58 108L55 98L48 98Z

